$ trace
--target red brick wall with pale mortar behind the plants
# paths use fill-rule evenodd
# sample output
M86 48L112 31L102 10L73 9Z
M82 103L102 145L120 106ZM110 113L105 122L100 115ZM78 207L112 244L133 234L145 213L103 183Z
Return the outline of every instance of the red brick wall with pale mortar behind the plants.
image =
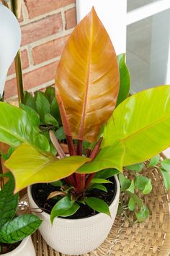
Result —
M75 0L22 0L19 22L24 90L34 92L54 83L63 46L76 25ZM14 63L6 78L5 98L17 98Z

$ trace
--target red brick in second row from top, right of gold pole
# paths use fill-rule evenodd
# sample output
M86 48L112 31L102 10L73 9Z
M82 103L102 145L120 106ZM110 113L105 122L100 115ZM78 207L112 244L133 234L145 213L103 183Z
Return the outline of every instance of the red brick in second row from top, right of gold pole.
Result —
M22 26L22 46L54 35L62 30L61 13Z

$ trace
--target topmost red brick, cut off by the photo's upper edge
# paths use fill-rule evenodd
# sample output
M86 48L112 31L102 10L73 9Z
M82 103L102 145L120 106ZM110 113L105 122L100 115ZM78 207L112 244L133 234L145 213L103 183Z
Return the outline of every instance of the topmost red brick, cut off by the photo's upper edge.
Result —
M24 0L29 17L33 18L75 3L75 0Z

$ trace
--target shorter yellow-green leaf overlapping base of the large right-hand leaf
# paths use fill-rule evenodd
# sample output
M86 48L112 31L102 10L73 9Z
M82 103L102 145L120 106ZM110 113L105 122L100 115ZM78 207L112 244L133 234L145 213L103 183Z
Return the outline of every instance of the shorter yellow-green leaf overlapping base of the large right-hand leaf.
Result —
M81 166L76 172L91 174L105 168L116 168L122 171L122 161L125 147L121 142L115 142L111 147L103 148L92 162Z

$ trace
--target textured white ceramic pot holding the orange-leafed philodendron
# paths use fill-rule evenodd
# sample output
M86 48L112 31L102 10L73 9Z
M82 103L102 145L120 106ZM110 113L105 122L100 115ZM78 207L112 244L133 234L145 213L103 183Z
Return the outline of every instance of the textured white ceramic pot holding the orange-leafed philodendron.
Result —
M104 213L81 219L55 218L53 226L50 215L45 212L35 213L42 219L39 228L40 234L48 245L58 252L66 255L84 255L99 247L107 238L112 224L115 221L120 198L120 184L115 176L117 192L115 199L109 206L112 218ZM38 208L32 198L31 187L28 188L30 208ZM38 210L37 210L38 211Z

